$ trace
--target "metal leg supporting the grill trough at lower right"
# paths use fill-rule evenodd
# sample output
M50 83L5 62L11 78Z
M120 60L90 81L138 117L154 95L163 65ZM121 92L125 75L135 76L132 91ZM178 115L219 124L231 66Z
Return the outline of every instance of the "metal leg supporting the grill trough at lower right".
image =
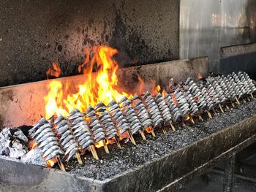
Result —
M223 191L233 191L234 181L234 169L235 169L235 155L233 155L225 164L224 178L223 178Z

